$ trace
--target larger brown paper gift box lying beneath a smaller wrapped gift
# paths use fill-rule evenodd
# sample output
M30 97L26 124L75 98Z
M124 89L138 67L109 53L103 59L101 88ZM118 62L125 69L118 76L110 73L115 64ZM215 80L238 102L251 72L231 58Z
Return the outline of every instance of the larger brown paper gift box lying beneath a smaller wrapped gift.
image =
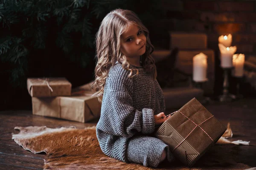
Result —
M99 118L101 104L92 96L32 97L33 114L87 122Z

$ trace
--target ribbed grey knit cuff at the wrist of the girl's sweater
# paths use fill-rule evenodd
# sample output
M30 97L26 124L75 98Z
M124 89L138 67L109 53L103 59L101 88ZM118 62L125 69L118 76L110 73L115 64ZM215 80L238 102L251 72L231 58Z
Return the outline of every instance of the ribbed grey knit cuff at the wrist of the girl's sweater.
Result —
M155 126L154 111L152 109L144 108L142 110L142 116L142 133L153 133Z

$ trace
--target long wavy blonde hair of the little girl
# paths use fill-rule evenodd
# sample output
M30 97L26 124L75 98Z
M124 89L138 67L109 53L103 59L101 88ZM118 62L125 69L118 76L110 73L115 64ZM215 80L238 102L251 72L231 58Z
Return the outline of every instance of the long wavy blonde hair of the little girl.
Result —
M100 102L102 101L108 72L116 61L122 64L125 70L130 71L129 78L138 74L137 69L130 68L130 64L120 50L121 35L133 24L141 28L147 41L146 51L140 56L141 64L145 72L150 74L153 79L157 77L154 59L151 57L154 47L150 42L148 29L133 11L115 9L105 16L96 34L97 64L95 67L95 80L91 87L96 91L93 96L97 96ZM133 71L136 71L136 74L133 74Z

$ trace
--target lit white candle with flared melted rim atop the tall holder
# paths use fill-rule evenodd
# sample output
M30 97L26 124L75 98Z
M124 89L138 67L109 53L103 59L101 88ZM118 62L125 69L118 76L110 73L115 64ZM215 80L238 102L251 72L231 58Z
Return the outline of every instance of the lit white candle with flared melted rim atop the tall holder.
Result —
M236 46L225 47L223 44L218 44L218 46L221 51L221 67L233 67L233 54L236 52Z

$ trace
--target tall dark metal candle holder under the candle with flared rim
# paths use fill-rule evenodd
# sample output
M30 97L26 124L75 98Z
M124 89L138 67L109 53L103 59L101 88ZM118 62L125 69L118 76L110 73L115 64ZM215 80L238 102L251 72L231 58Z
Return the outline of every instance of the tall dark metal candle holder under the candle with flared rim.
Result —
M230 94L228 90L229 88L228 76L231 69L232 67L223 68L224 70L223 94L219 96L219 100L221 102L231 102L233 99L236 99L236 96L233 94Z

